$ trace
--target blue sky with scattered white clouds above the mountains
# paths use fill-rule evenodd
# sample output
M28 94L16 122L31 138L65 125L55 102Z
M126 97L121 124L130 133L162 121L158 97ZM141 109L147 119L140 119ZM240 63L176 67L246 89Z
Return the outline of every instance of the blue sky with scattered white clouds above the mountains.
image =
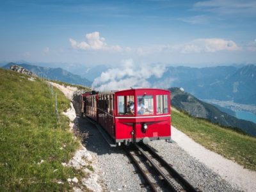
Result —
M0 26L1 61L256 63L256 1L1 1Z

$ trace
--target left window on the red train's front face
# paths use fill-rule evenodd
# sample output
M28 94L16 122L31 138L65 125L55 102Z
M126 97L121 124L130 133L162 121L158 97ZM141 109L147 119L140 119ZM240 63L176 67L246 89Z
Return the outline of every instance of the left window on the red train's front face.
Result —
M117 97L118 115L134 115L134 96L125 95Z

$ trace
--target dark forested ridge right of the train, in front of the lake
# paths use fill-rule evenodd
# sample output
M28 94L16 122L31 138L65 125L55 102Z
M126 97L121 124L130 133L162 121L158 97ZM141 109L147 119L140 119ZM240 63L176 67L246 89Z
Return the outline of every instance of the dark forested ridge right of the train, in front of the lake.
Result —
M172 106L189 113L191 116L205 118L214 124L220 124L225 127L239 128L256 136L256 124L246 120L240 120L234 116L220 111L220 109L196 99L193 95L180 90L180 88L170 88L172 97Z

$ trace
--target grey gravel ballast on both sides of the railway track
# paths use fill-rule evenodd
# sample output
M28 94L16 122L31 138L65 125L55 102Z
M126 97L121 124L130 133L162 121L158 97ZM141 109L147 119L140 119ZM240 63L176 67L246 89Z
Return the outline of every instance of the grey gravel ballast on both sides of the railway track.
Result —
M77 136L81 136L84 147L97 156L96 166L106 191L149 191L148 187L143 186L143 179L136 173L124 150L109 147L95 125L86 118L77 118L77 124ZM150 146L201 191L238 191L176 143L152 141Z

